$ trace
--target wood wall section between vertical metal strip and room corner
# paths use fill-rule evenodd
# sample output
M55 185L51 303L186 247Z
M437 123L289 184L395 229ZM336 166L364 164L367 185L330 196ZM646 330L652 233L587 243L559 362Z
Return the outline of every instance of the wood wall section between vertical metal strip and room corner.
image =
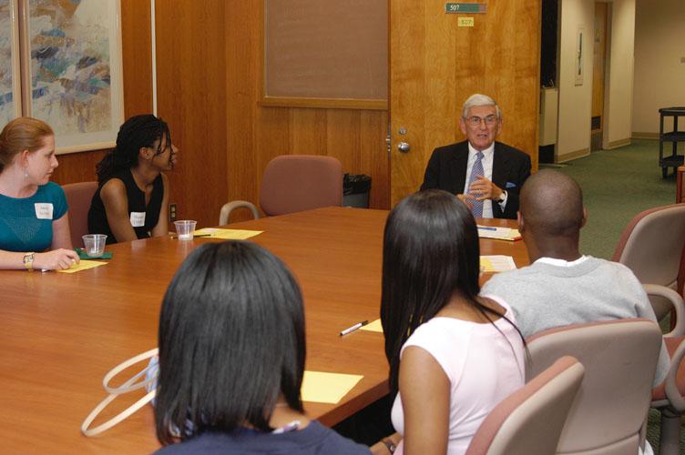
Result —
M169 202L179 219L216 226L228 200L223 0L157 0L158 115L179 147ZM229 8L226 7L226 10Z

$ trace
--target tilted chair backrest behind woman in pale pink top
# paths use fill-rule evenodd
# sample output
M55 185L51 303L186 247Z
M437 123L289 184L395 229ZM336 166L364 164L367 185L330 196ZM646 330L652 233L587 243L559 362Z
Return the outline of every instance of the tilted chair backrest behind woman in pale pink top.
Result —
M555 453L584 374L577 359L558 359L490 412L466 455Z

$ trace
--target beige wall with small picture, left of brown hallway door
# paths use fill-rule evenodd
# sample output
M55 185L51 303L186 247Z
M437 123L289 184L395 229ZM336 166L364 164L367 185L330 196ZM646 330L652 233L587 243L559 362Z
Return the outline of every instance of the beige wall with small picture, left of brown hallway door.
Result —
M559 115L555 161L588 155L592 109L592 36L594 0L561 0L559 17ZM576 86L576 40L578 27L585 28L583 85Z

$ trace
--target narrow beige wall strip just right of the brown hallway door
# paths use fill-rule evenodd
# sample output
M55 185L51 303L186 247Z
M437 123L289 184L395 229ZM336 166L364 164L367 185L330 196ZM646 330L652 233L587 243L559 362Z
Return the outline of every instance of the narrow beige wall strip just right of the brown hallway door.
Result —
M610 38L607 91L604 99L604 148L630 143L635 49L635 0L614 0L609 8L611 26L608 28Z

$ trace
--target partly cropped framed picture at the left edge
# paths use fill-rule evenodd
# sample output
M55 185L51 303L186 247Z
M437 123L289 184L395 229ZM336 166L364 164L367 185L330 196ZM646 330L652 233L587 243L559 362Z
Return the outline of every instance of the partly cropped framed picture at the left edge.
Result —
M22 115L19 5L0 0L0 128Z

